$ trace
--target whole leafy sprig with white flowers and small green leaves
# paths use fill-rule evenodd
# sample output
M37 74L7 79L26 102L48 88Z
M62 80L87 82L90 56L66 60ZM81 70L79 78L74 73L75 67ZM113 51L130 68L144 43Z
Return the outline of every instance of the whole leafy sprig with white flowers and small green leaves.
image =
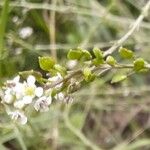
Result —
M40 68L50 77L43 78L39 72L33 70L20 73L22 76L28 75L27 79L21 82L20 76L17 76L7 81L3 92L0 91L2 103L9 106L7 112L13 120L25 124L27 106L33 106L36 111L44 112L49 110L52 100L72 102L71 94L82 84L94 81L96 77L110 69L128 69L123 74L116 72L111 80L112 84L125 80L133 73L150 70L150 64L143 58L136 57L132 50L120 47L118 54L130 63L120 64L113 56L106 57L98 48L93 48L92 53L81 48L71 49L67 54L69 61L66 67L57 64L52 57L39 57ZM73 71L73 68L78 68L77 65L80 69ZM42 83L44 88L37 86L36 80Z

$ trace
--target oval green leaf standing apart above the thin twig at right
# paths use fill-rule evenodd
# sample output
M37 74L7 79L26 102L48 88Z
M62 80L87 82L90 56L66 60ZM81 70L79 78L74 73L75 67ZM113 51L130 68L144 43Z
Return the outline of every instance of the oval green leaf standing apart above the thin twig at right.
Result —
M123 47L121 47L120 49L119 49L119 54L120 54L120 56L122 57L122 58L124 58L124 59L131 59L131 58L133 58L133 51L131 51L131 50L128 50L128 49L126 49L126 48L123 48Z

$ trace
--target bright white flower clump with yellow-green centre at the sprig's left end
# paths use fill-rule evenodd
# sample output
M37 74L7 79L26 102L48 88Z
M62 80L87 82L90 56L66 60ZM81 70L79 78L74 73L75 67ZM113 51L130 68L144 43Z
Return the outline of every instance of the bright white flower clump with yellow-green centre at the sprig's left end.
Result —
M35 85L36 79L29 75L27 81L19 82L20 76L16 76L13 80L7 81L7 86L3 94L3 102L11 104L14 107L22 109L25 105L32 103L33 98L43 95L43 88Z

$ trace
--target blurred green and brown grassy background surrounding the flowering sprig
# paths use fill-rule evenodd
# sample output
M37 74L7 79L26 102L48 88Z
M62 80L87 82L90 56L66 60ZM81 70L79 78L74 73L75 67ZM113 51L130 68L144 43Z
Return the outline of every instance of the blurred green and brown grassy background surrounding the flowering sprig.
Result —
M107 50L147 1L1 0L0 84L20 71L41 71L38 56L66 65L71 48ZM150 15L123 46L150 62ZM149 73L119 84L110 84L112 76L77 91L67 109L57 102L47 113L29 110L29 123L19 129L0 105L0 150L150 150Z

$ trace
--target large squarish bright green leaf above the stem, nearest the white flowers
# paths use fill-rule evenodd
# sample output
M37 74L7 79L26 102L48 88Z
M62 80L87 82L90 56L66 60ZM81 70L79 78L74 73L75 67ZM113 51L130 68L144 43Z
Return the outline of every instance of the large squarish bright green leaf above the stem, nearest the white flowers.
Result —
M39 57L40 68L49 71L55 65L55 60L52 57Z

